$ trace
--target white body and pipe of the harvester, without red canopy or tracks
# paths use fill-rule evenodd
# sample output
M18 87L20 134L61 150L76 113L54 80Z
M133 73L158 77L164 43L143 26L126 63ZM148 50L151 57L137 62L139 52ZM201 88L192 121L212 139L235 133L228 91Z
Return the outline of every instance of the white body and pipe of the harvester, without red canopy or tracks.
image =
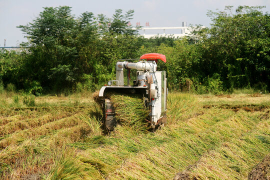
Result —
M130 92L143 95L144 102L149 108L149 121L154 128L166 118L167 86L165 71L156 71L155 61L117 62L116 80L110 80L108 85L101 87L99 96L105 96L106 92ZM123 70L136 69L136 81L133 86L124 85ZM134 82L133 82L134 83Z

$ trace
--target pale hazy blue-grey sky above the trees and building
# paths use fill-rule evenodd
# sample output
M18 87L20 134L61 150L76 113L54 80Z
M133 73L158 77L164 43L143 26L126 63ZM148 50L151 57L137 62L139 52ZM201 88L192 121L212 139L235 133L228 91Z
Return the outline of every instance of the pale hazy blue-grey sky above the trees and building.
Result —
M16 26L31 22L42 7L59 5L71 6L75 16L88 11L111 17L117 8L134 9L131 23L149 22L150 27L181 26L182 21L208 26L207 10L223 10L225 5L265 5L263 11L270 11L270 0L0 0L0 46L4 39L6 46L27 41Z

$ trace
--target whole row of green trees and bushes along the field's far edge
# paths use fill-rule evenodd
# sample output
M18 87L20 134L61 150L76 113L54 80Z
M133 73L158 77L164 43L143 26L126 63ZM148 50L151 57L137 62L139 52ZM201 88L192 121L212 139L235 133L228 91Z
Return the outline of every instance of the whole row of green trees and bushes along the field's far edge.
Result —
M208 11L209 27L193 26L182 38L138 34L128 23L134 11L116 9L112 17L71 7L45 7L18 28L28 41L20 51L0 49L0 89L16 88L32 94L95 90L115 78L118 59L143 53L166 55L171 90L222 93L234 88L270 88L270 21L263 6L226 6Z

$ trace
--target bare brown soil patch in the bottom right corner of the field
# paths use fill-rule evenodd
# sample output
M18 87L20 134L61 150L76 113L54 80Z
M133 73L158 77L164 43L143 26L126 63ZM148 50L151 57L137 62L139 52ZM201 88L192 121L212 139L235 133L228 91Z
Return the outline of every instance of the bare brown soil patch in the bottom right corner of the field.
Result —
M248 174L248 180L270 180L270 154L267 154Z

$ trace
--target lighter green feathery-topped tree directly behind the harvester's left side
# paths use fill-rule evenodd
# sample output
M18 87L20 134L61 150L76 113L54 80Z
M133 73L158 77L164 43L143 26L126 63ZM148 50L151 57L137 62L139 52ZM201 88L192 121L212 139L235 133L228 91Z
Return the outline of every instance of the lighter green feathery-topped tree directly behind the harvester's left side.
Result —
M123 14L121 9L116 9L112 18L103 14L97 16L98 31L102 38L97 49L99 61L96 67L100 68L97 68L94 74L98 77L96 83L115 77L115 63L118 59L139 57L142 41L139 40L138 30L128 24L133 12L134 10L128 10Z

